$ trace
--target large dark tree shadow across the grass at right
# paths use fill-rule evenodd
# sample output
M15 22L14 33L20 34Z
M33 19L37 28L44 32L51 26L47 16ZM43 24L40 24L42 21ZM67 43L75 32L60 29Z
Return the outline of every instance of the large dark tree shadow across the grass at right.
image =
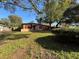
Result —
M54 32L56 34L55 36L40 37L36 39L35 42L40 44L43 48L49 50L78 52L79 37L75 37L75 35L79 35L79 33L66 31L63 31L63 33L59 32Z

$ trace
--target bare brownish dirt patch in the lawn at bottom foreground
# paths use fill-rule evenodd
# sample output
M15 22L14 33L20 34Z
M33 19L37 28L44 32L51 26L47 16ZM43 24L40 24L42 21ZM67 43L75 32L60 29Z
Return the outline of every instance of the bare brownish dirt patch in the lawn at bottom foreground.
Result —
M45 49L35 51L35 48L19 48L9 59L57 59L54 54L47 52ZM39 53L38 53L39 52Z

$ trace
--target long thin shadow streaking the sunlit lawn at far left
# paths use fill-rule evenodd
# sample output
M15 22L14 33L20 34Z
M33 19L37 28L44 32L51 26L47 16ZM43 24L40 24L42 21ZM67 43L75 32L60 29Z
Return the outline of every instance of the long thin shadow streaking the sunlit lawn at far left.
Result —
M0 40L18 40L23 38L28 38L30 34L12 34L4 33L0 35Z

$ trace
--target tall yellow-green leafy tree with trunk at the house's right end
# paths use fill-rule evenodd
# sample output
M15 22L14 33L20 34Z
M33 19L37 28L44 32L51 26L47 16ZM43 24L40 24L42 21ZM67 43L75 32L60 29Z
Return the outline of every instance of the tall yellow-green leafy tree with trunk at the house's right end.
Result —
M72 5L72 0L46 0L45 13L51 27L52 20L61 21L64 11Z

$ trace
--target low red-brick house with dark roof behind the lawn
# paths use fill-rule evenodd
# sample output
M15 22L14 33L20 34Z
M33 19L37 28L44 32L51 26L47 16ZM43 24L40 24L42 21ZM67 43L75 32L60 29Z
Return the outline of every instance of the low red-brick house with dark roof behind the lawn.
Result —
M37 24L37 23L23 23L21 31L45 31L50 28L46 24Z

